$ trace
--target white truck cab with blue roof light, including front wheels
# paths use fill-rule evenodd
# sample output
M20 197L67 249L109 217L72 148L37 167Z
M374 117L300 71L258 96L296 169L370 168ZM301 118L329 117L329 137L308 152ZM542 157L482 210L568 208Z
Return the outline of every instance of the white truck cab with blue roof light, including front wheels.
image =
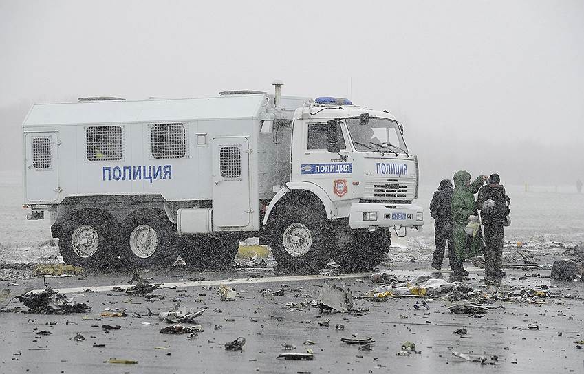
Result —
M301 222L288 232L274 232L272 252L279 262L322 265L306 248L315 236L324 236L324 249L316 252L349 270L368 270L385 259L390 229L402 236L407 228L422 230L424 210L413 205L418 158L409 153L402 126L391 114L325 97L296 109L292 120L290 182L272 199L264 223L279 199L290 194L300 195L292 206L321 214L314 214L320 222L313 225L316 234Z

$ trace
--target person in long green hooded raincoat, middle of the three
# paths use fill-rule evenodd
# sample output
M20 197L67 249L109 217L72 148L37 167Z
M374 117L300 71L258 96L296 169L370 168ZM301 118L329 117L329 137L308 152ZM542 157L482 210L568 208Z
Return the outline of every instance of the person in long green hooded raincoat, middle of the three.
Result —
M479 256L484 251L484 242L481 230L475 236L468 236L464 232L468 217L477 215L475 193L481 188L487 177L480 175L471 183L471 174L468 171L457 171L454 175L454 190L452 194L452 219L454 231L455 259L450 259L455 276L468 276L462 267L464 259Z

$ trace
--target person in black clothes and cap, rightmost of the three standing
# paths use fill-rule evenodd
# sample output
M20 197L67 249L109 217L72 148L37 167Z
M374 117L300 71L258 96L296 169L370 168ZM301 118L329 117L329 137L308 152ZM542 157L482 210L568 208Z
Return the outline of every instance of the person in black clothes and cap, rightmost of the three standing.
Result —
M481 210L481 219L485 228L485 276L500 278L506 275L501 270L503 262L503 227L509 214L511 199L498 174L488 177L488 184L479 190L477 208Z

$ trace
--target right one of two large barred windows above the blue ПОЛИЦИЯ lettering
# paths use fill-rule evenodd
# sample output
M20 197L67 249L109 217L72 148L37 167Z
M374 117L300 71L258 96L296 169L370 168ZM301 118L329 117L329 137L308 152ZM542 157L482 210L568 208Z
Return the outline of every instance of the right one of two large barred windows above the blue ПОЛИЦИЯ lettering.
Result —
M184 157L186 155L184 124L154 124L150 129L150 151L155 159Z

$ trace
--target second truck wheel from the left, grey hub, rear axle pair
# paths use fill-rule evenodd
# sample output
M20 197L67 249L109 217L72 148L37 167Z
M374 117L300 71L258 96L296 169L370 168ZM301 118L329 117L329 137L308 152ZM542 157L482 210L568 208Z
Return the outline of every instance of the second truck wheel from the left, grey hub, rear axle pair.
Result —
M124 226L124 258L131 267L164 267L178 256L176 228L166 217L144 214Z

